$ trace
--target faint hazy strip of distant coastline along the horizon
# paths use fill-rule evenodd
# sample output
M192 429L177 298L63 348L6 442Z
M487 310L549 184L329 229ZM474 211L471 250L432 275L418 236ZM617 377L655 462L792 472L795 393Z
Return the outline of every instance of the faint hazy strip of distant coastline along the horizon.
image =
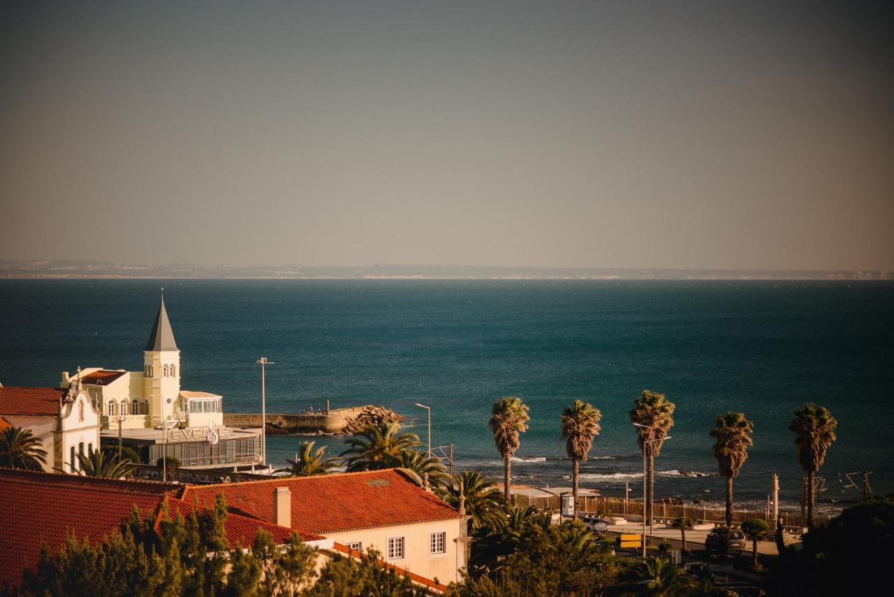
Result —
M129 265L106 261L0 260L4 278L399 279L399 280L894 280L869 269L620 269L472 265L206 266Z

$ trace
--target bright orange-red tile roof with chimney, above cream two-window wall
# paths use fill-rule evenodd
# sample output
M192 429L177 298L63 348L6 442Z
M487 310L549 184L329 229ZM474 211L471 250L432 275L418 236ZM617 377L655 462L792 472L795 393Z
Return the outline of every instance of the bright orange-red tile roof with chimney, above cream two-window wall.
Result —
M273 491L291 490L291 525L310 533L335 533L376 526L410 525L459 518L443 499L420 488L397 469L263 481L188 485L181 499L205 506L223 493L227 508L273 520Z

